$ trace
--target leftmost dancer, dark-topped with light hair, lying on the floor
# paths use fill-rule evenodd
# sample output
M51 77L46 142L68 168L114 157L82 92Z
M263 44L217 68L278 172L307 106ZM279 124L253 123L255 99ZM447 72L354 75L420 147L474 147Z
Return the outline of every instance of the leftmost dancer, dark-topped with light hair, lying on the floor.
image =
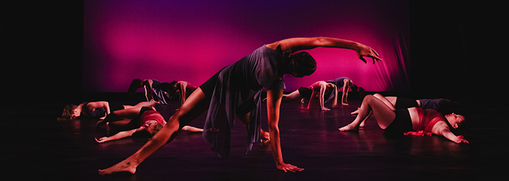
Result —
M100 120L103 120L106 118L106 115L113 111L129 109L132 107L153 107L155 104L157 104L157 102L153 100L150 102L140 102L134 106L115 104L107 101L83 102L78 105L69 104L64 107L62 117L58 118L58 120L71 120L80 116L87 118L99 118Z

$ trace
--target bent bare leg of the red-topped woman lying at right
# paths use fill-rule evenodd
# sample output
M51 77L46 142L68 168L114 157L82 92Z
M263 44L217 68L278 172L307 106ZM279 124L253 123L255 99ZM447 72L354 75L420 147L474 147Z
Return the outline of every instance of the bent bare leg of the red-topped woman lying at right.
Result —
M388 107L387 104L374 97L373 95L366 95L364 100L362 101L361 108L359 109L359 114L354 121L344 127L340 127L340 131L352 131L357 130L359 128L359 124L361 121L365 120L366 117L373 111L373 116L375 116L378 125L380 128L385 129L389 126L394 118L396 118L396 113L394 113L394 107Z

